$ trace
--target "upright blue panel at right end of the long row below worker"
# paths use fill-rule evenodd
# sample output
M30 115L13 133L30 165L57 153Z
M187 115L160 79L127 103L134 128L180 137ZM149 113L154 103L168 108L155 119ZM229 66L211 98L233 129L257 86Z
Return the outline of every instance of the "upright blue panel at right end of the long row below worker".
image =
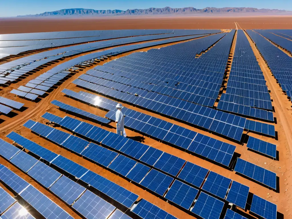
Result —
M226 200L245 209L248 192L248 186L232 181Z

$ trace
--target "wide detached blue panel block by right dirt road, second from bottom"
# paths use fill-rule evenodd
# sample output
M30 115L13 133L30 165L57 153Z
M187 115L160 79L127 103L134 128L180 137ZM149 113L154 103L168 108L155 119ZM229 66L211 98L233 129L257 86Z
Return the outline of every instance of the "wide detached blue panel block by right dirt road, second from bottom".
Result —
M250 162L247 162L241 158L237 158L234 171L241 173L242 175L245 175L275 190L277 189L276 173L266 170Z

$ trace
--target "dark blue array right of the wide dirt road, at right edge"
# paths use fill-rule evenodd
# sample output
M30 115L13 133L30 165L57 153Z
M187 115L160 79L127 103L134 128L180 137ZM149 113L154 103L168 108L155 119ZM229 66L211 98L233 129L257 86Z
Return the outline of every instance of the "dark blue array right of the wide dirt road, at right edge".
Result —
M255 31L258 32L258 30ZM270 67L272 74L274 75L275 79L279 82L279 85L281 86L282 90L285 91L288 97L291 98L292 75L290 71L292 69L291 62L292 58L283 51L281 51L279 48L271 44L269 41L265 40L263 36L256 32L252 30L247 30L248 35L255 42L258 50L260 51L261 55L267 62L267 65ZM263 34L262 32L260 33ZM267 36L267 33L264 33L263 35ZM274 34L272 35L273 41L275 40L274 37L279 38L281 42L288 41L284 38L275 36ZM291 41L288 42L290 44ZM278 41L277 44L279 44Z

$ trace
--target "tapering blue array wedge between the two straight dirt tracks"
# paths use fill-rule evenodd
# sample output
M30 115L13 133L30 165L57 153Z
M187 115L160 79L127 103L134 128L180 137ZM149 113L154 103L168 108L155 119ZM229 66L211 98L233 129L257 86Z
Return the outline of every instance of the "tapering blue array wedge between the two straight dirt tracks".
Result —
M226 93L218 103L218 109L249 117L274 121L271 97L256 56L243 30L237 31ZM261 80L253 81L253 79ZM267 109L267 110L264 110Z

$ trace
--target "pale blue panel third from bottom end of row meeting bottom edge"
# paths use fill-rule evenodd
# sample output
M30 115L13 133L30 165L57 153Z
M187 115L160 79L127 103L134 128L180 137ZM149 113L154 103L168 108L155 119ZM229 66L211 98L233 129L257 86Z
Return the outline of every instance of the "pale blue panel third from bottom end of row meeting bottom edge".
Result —
M86 189L63 175L50 190L71 205Z

